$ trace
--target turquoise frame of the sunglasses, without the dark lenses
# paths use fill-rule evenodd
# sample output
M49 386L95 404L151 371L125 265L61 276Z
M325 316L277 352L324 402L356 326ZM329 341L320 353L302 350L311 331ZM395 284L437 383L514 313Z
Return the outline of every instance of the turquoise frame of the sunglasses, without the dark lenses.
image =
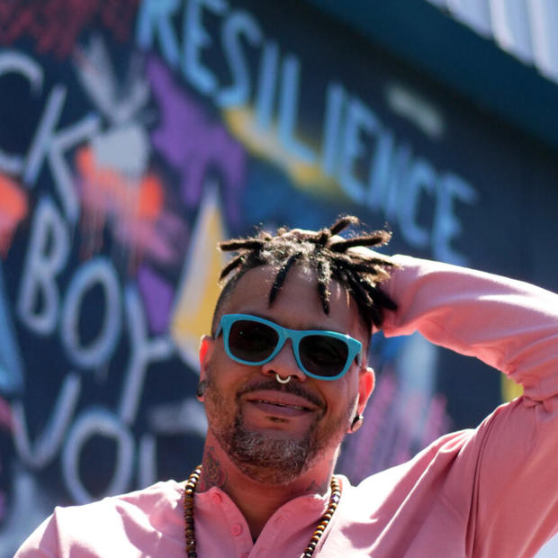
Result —
M269 328L273 329L277 334L278 336L277 345L275 346L275 349L271 352L271 354L267 356L265 359L252 362L252 361L239 358L238 356L234 356L230 351L229 348L230 328L235 322L240 320L253 321L256 323L264 324ZM352 338L349 335L344 333L339 333L338 331L328 331L325 329L288 329L288 328L284 328L283 326L280 326L279 324L276 324L274 321L264 320L263 318L252 316L251 314L223 314L220 319L219 328L217 328L217 331L215 332L215 338L219 338L221 331L223 334L223 345L225 347L225 352L227 353L229 358L240 363L241 365L251 365L251 366L265 365L269 361L273 360L275 356L277 356L279 351L281 351L281 349L283 348L287 339L291 339L293 343L293 355L294 355L294 359L296 360L296 364L299 366L299 368L302 370L304 374L310 376L311 378L316 378L317 380L326 380L326 381L338 380L343 375L347 374L347 370L353 364L355 358L359 366L362 364L363 344L360 341L356 340L355 338ZM320 376L320 374L314 374L310 372L309 370L306 369L304 365L302 365L302 360L299 353L300 342L303 338L307 338L309 336L316 336L316 335L320 335L326 338L339 339L344 343L346 343L347 345L347 363L345 363L345 366L343 367L341 372L339 372L335 376Z

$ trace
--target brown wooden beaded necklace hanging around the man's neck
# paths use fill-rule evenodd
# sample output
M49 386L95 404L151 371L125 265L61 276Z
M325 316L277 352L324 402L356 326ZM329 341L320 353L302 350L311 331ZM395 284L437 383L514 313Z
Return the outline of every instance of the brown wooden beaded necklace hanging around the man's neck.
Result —
M197 558L198 555L195 550L195 535L193 532L193 494L200 480L201 473L202 465L199 465L193 470L193 473L188 477L184 485L184 534L186 536L186 556L188 558ZM320 524L316 527L314 534L311 536L310 543L304 549L302 558L311 558L311 555L314 554L314 550L316 550L321 536L326 530L326 527L328 527L335 510L338 509L338 503L341 498L341 485L333 475L331 476L330 487L331 496L329 497L328 509L321 517Z

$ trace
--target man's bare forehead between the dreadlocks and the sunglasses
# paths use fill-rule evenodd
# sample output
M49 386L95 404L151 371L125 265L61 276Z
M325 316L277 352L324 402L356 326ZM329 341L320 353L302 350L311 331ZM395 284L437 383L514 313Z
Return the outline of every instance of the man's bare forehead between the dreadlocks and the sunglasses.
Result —
M247 271L235 285L221 313L245 313L270 318L292 329L330 329L363 337L363 327L353 297L337 281L329 283L329 314L323 311L316 275L301 266L293 266L274 303L269 293L277 269L259 266ZM357 333L360 331L360 335Z

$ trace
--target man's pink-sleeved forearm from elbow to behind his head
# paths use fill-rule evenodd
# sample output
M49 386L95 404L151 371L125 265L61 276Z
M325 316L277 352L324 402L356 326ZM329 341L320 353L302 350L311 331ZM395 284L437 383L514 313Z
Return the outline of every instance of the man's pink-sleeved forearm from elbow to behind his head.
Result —
M508 374L533 401L558 394L558 295L499 275L395 256L386 336L419 331Z

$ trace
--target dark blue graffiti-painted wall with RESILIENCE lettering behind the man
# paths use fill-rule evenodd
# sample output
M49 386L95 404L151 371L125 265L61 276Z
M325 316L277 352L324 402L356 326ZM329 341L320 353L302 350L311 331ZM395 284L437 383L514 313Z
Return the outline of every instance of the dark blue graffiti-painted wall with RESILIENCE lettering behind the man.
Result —
M558 290L552 153L310 6L267 4L0 0L1 556L57 504L199 462L220 239L352 212L392 251ZM372 352L338 467L355 481L506 397L423 338Z

